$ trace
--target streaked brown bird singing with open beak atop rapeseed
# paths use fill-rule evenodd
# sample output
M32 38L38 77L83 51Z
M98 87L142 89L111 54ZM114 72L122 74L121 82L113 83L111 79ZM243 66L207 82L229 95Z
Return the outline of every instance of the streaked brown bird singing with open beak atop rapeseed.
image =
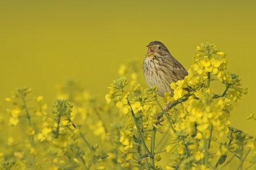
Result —
M159 41L149 43L148 53L143 62L144 77L147 84L158 86L157 94L164 97L164 93L171 92L171 82L183 80L187 71L182 64L168 51L166 46Z

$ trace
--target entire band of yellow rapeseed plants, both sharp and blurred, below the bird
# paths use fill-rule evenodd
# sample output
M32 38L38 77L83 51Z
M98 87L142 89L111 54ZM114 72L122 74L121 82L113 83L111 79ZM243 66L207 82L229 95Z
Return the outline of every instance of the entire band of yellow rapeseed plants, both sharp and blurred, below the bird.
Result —
M0 115L1 133L7 124L15 129L1 139L0 169L229 169L233 162L236 170L244 163L254 168L256 138L230 121L247 89L215 44L196 51L188 76L170 84L174 96L143 88L138 60L121 65L107 103L73 80L57 86L50 107L42 96L28 98L31 89L16 89L6 98L13 104L9 121ZM256 120L254 113L247 119Z

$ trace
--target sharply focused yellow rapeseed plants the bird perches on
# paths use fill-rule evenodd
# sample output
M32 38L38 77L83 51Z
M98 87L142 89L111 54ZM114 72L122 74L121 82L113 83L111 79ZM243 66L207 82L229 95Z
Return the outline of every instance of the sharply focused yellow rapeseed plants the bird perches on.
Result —
M220 156L218 163L215 164L217 168L226 160L227 152L224 151L234 148L231 141L237 140L233 137L230 141L229 137L230 144L215 143L220 145L220 150L216 152L220 155L214 155L211 148L211 143L214 142L212 136L213 132L214 139L225 134L234 136L230 130L230 112L234 108L234 102L239 102L242 94L247 94L247 89L241 88L238 75L227 72L226 54L220 52L215 44L201 44L196 50L197 53L192 57L192 66L188 69L188 76L184 80L170 84L174 96L165 93L163 100L169 102L167 108L163 109L157 99L157 86L141 90L141 86L136 82L131 88L130 85L127 87L129 83L125 78L120 78L109 87L105 99L108 103L113 100L127 118L126 130L120 131L120 153L126 157L120 157L119 163L124 168L130 169L136 163L141 166L141 160L144 160L143 167L146 169L159 168L158 161L161 159L156 159L156 155L160 154L155 154L153 150L156 132L164 133L158 120L163 114L166 115L166 125L171 127L173 132L171 145L166 147L167 152L172 151L172 161L167 169L208 169L212 157ZM127 66L121 66L121 76L124 76L127 70ZM224 84L223 92L214 93L210 88L211 81ZM140 91L139 95L135 93L137 90ZM144 96L141 96L142 91ZM160 106L158 114L154 112L157 105ZM253 117L249 116L248 119ZM151 135L146 133L148 130ZM238 138L241 141L250 139ZM150 141L150 147L145 145L147 141ZM140 149L135 147L137 144ZM136 149L138 155L134 153Z

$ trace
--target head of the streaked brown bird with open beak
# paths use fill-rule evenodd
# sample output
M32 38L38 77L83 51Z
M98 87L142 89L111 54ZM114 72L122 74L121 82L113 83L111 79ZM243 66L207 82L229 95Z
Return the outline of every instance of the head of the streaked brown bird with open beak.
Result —
M147 47L148 47L147 57L150 57L150 56L164 57L164 56L167 56L168 53L170 53L166 48L166 46L159 41L153 41L149 43Z

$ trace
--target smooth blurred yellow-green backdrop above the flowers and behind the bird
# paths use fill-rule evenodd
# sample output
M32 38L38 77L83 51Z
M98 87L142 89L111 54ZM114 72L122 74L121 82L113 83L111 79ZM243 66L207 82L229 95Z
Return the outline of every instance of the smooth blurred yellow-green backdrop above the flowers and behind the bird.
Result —
M33 88L50 105L56 84L80 81L101 101L117 70L142 61L162 41L186 69L196 46L215 42L239 74L247 96L232 125L256 135L256 1L0 1L0 104L16 87ZM141 68L142 70L142 68ZM142 72L141 72L142 74Z

